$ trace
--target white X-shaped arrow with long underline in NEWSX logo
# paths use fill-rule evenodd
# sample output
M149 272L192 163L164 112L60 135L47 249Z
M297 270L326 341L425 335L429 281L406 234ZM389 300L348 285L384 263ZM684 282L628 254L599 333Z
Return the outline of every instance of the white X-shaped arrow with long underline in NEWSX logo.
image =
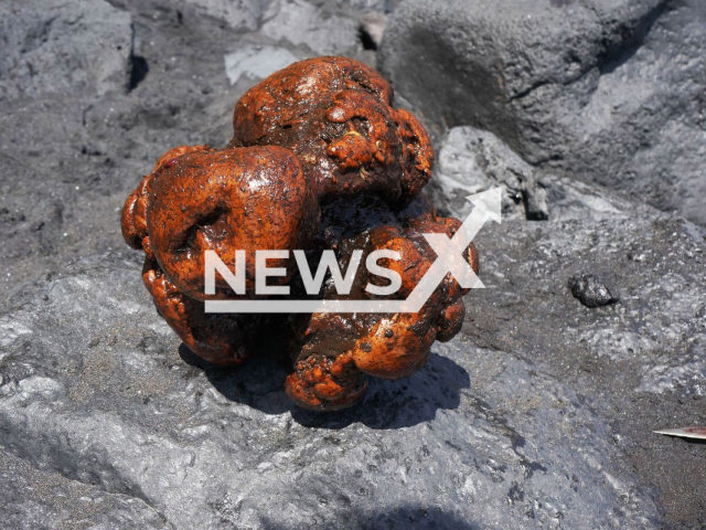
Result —
M422 234L437 259L406 300L206 300L206 312L418 312L435 289L451 273L464 289L485 286L463 258L463 252L483 225L501 222L502 189L469 195L473 210L449 239L446 234Z

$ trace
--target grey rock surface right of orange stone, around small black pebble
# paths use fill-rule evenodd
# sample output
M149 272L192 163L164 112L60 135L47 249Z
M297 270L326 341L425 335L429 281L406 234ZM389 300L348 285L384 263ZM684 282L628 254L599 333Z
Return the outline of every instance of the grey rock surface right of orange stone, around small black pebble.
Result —
M705 234L634 204L595 213L481 232L490 288L471 296L462 333L479 347L525 352L535 370L591 396L663 510L661 524L702 527L706 490L694 470L705 468L704 446L652 431L706 423ZM620 304L580 305L567 279L582 273L617 287Z

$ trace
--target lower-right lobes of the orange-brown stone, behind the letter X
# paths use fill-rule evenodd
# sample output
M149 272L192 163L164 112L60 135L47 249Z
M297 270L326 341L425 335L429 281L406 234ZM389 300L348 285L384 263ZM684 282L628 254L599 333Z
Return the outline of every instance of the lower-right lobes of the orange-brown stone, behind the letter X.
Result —
M363 213L364 212L364 213ZM400 288L389 296L376 296L365 286L387 284L386 279L360 267L349 295L341 296L329 283L324 298L347 299L405 299L431 266L436 255L422 233L446 233L452 236L460 226L456 219L437 218L434 206L418 198L402 211L393 212L378 199L342 199L327 205L322 212L328 233L339 234L328 244L338 251L341 269L347 271L352 253L363 251L361 263L374 251L391 250L399 259L379 259L379 264L395 271L402 278ZM471 245L466 259L478 272L478 254ZM350 388L350 395L357 395L360 380L343 367L383 379L402 379L417 372L426 363L435 340L450 340L461 328L466 308L462 289L447 275L431 297L416 314L356 314L334 315L318 312L298 319L293 337L296 372L287 378L286 390L296 402L315 410L338 409L342 392ZM296 319L297 320L297 319ZM331 370L331 360L344 356L340 377ZM331 382L339 392L329 393ZM308 396L301 403L301 396Z

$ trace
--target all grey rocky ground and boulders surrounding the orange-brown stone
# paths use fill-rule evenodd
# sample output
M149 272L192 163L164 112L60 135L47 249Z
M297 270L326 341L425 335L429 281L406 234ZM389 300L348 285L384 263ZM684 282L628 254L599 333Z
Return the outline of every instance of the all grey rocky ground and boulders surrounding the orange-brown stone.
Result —
M485 3L0 0L0 526L706 526L705 446L652 434L706 424L703 7ZM440 210L505 200L457 339L315 415L180 348L118 213L327 53L424 118Z

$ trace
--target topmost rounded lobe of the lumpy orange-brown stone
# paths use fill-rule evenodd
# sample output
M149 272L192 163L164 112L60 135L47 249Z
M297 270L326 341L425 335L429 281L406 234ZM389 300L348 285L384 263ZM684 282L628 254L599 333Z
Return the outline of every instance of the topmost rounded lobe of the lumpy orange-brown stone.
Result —
M429 180L434 155L417 119L392 100L389 84L357 61L302 61L238 100L231 145L292 149L323 198L373 192L408 202Z

